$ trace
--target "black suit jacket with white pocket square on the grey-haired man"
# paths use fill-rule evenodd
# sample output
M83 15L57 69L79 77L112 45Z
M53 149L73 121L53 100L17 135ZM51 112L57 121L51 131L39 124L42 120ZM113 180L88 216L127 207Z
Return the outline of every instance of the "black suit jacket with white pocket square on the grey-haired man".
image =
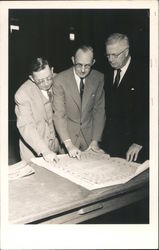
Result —
M133 61L114 91L113 73L105 76L106 126L103 135L105 150L112 156L126 156L132 143L148 151L148 94L145 72ZM146 156L147 157L147 156Z

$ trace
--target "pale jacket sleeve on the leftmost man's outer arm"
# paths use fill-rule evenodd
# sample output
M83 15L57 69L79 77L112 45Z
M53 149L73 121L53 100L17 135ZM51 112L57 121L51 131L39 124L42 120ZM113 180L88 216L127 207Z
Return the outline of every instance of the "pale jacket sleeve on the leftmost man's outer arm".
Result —
M15 113L17 127L28 146L38 155L43 152L50 152L42 136L37 131L29 97L22 90L15 94Z

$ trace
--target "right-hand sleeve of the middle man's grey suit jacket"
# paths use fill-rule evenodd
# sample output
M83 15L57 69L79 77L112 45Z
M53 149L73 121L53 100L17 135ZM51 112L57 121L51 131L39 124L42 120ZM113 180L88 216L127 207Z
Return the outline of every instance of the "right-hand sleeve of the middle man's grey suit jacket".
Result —
M105 125L105 94L104 94L104 76L99 80L99 86L96 92L95 105L93 109L93 136L92 140L100 141Z

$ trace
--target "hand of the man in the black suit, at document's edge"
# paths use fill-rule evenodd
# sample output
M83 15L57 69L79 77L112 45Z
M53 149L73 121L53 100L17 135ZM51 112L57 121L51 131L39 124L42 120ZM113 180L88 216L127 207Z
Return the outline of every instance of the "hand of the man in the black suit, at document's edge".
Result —
M136 161L137 160L137 157L138 157L138 154L140 152L140 150L142 149L142 146L139 145L139 144L136 144L136 143L133 143L127 153L126 153L126 159L127 161Z

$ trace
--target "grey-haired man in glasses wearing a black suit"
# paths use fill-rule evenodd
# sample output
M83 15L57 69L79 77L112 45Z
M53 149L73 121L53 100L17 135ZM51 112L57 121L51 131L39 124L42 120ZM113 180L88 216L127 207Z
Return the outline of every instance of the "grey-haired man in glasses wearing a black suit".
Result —
M133 62L126 35L114 33L106 40L111 66L105 76L106 126L104 149L129 161L147 158L144 73ZM148 122L147 122L148 123Z

